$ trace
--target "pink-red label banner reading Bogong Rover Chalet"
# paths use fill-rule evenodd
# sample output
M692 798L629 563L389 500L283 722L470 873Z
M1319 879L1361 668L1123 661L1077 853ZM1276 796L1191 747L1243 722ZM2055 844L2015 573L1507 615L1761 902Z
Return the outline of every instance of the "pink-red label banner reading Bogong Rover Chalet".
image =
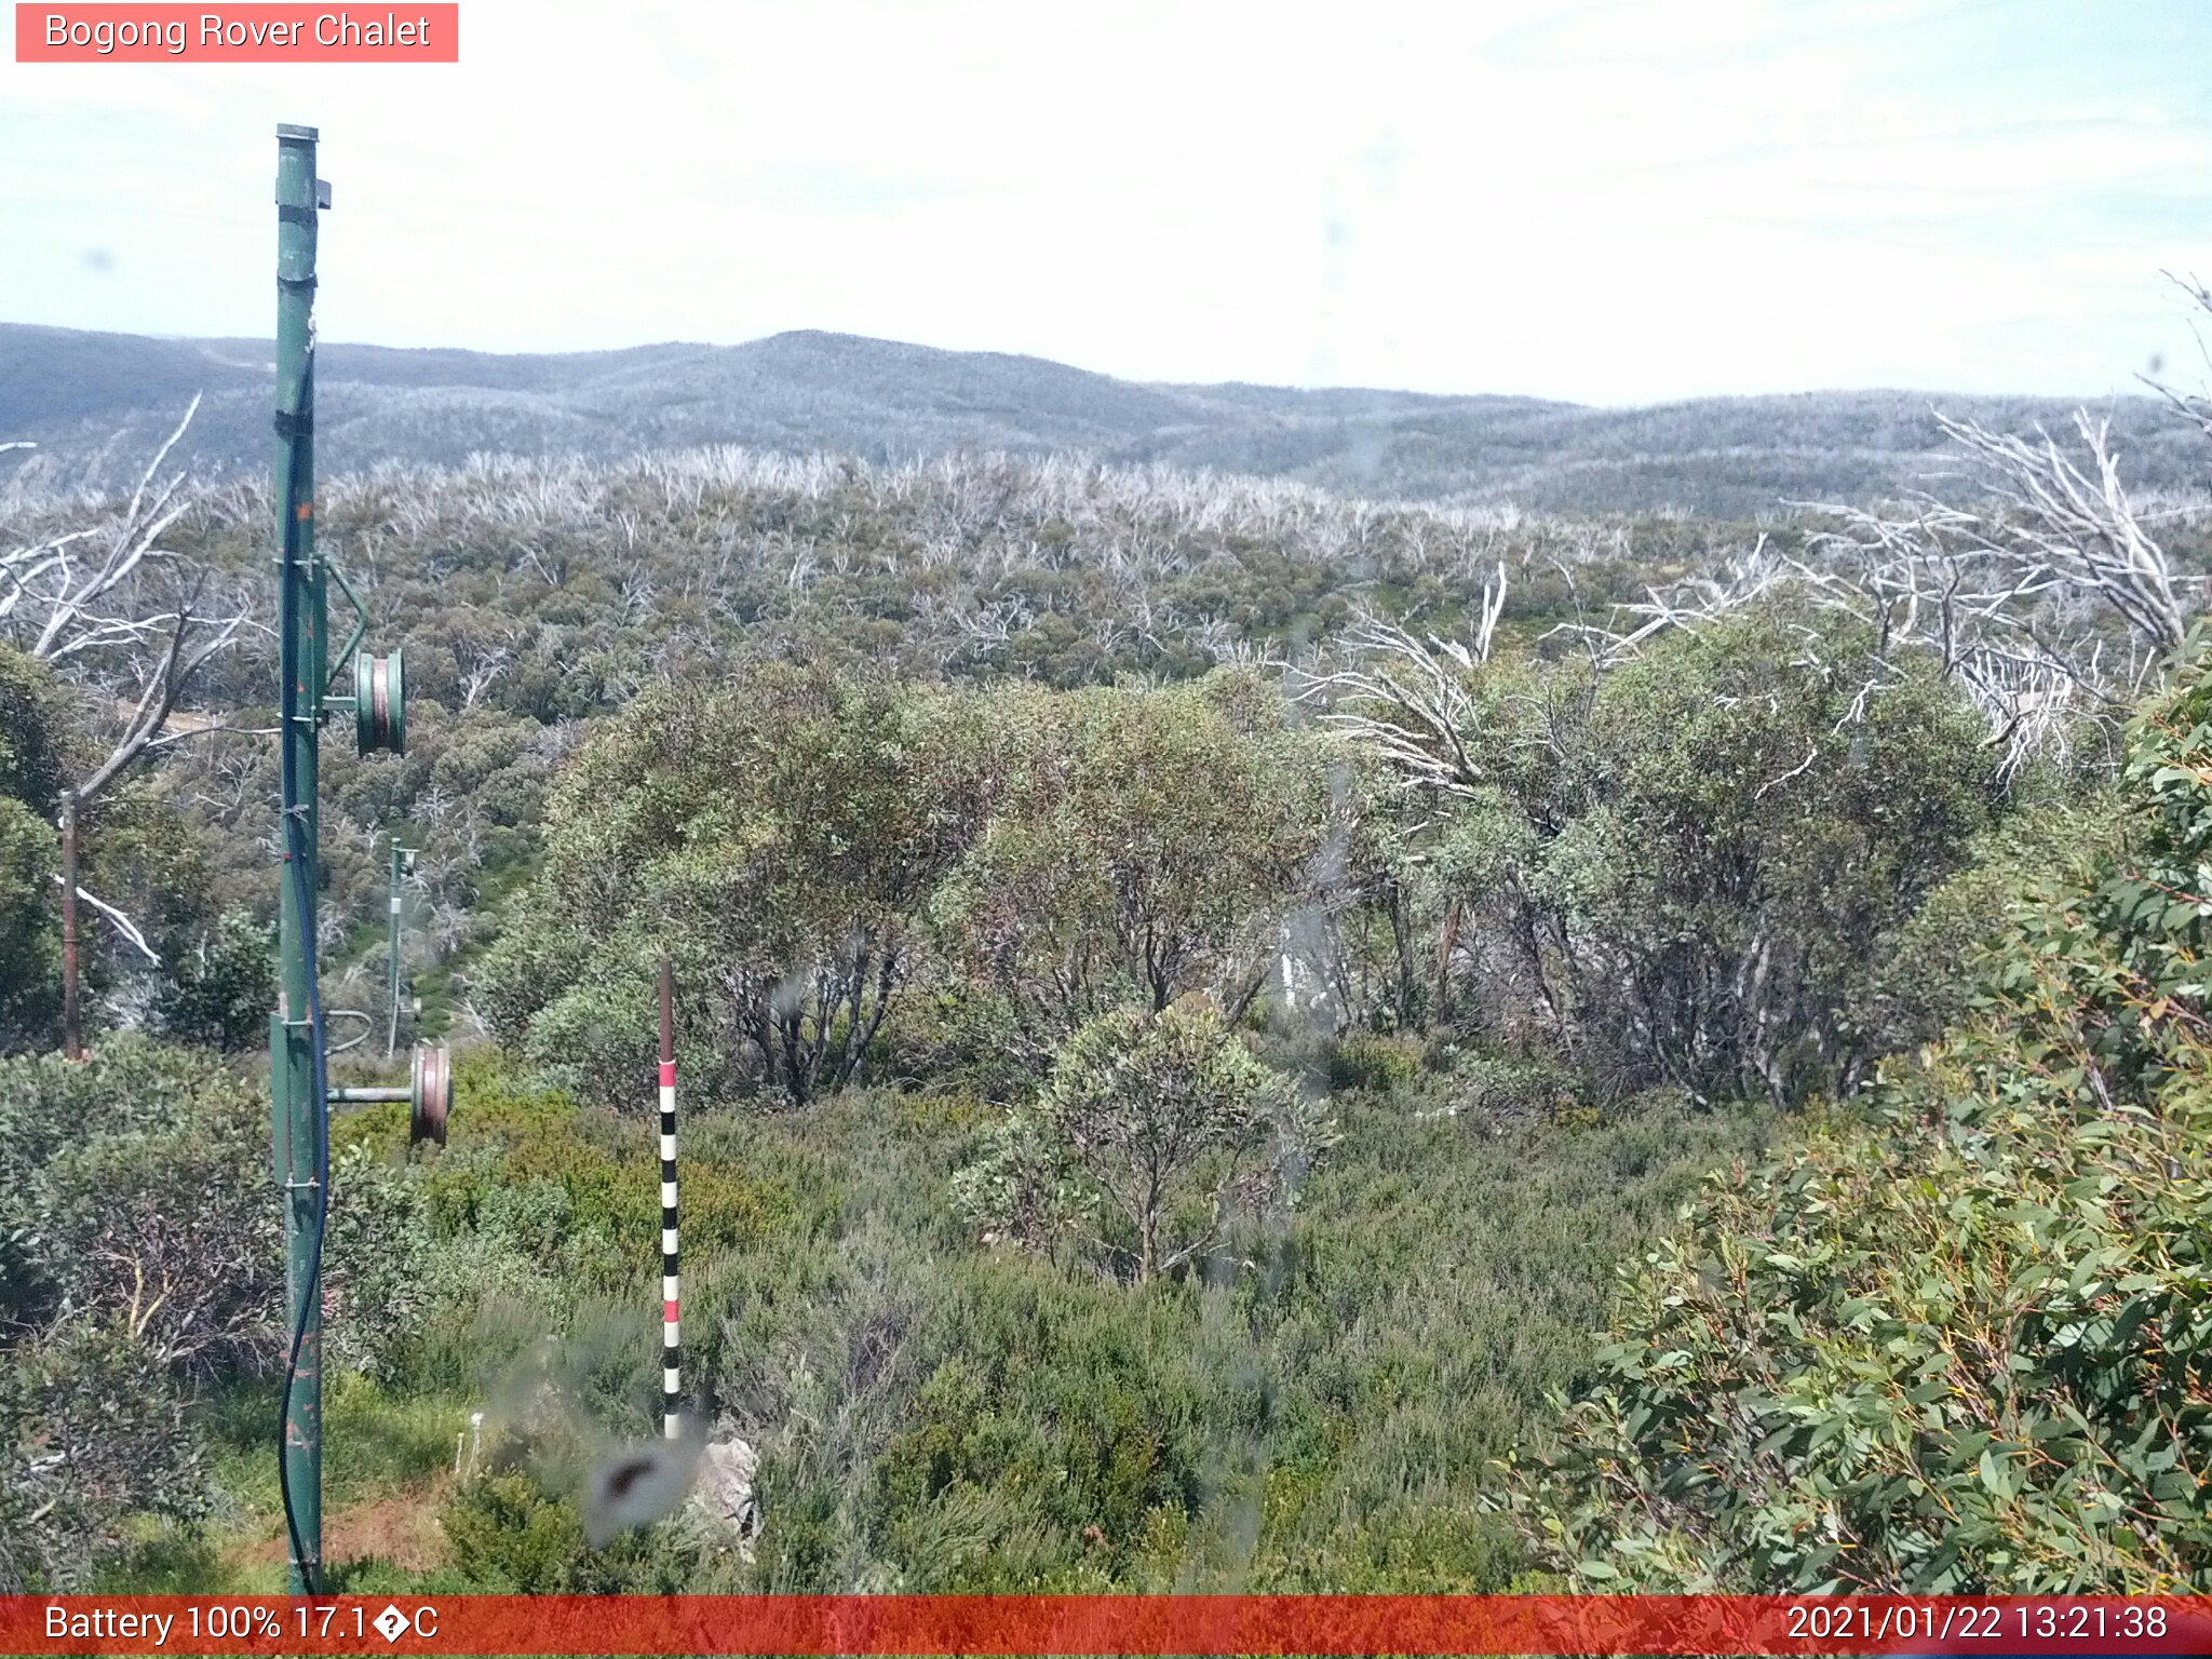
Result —
M458 4L15 4L18 64L458 64Z

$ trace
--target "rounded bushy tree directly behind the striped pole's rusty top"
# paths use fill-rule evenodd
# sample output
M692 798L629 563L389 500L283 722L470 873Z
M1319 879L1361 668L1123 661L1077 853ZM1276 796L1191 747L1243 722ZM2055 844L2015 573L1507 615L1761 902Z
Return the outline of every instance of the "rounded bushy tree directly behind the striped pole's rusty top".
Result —
M706 1088L745 1053L792 1102L847 1084L960 845L949 741L927 697L799 664L639 699L551 801L540 902L484 971L491 1018L644 1099L666 951Z

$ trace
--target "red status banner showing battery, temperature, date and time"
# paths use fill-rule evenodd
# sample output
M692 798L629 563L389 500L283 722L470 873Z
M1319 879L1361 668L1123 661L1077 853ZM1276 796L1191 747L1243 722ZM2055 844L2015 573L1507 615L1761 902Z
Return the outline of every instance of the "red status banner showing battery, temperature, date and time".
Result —
M0 1652L2203 1655L2212 1597L0 1597Z

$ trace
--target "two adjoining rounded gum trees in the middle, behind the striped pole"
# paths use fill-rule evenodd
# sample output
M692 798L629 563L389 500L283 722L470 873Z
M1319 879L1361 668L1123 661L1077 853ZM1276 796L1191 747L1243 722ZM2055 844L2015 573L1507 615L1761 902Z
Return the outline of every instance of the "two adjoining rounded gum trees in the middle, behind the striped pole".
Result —
M482 1006L644 1099L668 951L699 1086L792 1102L860 1075L922 969L1040 1051L1124 1002L1237 1013L1318 845L1318 776L1256 681L962 690L759 661L584 745Z

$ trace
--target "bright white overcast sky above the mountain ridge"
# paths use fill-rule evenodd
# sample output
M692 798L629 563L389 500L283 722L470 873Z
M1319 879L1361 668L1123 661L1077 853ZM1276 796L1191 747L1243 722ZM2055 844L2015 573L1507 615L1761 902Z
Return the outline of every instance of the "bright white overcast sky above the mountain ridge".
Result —
M2212 276L2201 0L462 0L458 66L0 62L0 321L265 334L281 119L323 131L336 341L1586 403L2205 376L2159 279Z

